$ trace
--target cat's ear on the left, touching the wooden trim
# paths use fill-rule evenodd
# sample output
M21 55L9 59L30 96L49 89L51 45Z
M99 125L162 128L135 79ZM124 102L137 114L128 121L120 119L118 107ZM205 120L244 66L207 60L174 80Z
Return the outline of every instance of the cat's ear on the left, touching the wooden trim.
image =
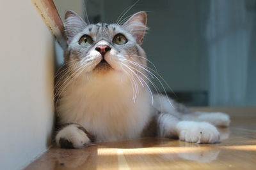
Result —
M70 41L74 38L74 36L83 31L87 27L86 22L74 11L67 11L65 14L65 35L67 38L67 43L69 44Z

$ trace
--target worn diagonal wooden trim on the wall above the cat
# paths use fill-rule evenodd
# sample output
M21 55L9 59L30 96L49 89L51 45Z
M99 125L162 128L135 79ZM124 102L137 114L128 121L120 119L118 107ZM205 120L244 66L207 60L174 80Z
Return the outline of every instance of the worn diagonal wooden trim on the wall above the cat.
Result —
M31 0L40 12L45 24L56 37L63 49L67 47L64 27L52 0Z

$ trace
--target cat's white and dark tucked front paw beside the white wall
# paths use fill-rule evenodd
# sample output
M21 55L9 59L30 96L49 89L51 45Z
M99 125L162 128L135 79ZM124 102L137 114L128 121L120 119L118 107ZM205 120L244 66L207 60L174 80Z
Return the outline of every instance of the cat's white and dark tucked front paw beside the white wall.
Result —
M84 127L75 123L62 125L55 139L60 148L83 148L94 140Z

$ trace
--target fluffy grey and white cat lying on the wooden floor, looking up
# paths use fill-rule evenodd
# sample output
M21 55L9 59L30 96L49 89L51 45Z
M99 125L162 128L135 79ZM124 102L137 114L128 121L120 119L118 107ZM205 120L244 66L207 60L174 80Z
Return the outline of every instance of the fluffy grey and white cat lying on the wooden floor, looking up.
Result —
M193 112L149 89L147 57L141 47L147 13L124 24L87 24L74 11L65 14L65 64L56 82L60 129L56 144L83 148L93 142L143 137L218 143L216 126L225 113Z

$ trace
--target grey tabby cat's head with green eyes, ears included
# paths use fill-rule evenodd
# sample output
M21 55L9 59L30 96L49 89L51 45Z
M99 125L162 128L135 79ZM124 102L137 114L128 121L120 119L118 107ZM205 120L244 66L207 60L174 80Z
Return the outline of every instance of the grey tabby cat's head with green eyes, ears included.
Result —
M141 48L147 30L147 13L140 11L124 24L87 24L74 11L65 15L69 69L84 73L143 73L145 52Z

